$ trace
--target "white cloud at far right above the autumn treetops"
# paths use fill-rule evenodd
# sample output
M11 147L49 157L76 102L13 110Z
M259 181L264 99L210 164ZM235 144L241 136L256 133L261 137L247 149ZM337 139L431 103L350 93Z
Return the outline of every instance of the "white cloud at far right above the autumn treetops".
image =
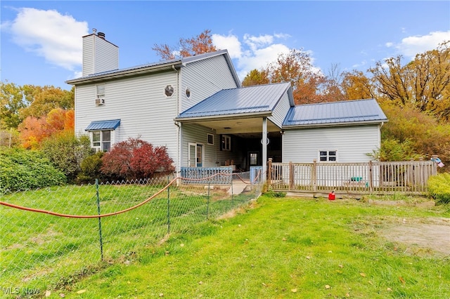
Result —
M450 30L446 32L437 31L422 36L409 36L395 45L401 55L413 59L418 53L425 53L437 48L443 41L450 40Z

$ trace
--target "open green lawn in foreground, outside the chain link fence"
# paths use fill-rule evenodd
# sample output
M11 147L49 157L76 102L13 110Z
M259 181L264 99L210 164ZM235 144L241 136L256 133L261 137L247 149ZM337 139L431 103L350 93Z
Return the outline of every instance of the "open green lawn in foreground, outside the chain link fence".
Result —
M401 220L449 206L260 197L233 217L193 225L50 298L450 298L449 256L397 243Z

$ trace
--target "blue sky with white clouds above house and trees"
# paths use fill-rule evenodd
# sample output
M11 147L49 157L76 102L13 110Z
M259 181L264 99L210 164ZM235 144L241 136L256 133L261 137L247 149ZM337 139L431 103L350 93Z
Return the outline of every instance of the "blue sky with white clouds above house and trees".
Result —
M450 40L450 1L5 1L1 81L64 89L82 69L82 36L93 28L119 46L119 66L160 58L155 44L210 29L240 79L279 53L308 51L328 74L366 72L375 62Z

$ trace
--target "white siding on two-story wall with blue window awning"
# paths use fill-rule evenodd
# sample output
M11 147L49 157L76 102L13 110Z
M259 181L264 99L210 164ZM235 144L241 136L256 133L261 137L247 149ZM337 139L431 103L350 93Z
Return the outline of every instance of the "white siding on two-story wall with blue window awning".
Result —
M166 146L169 156L177 161L178 127L176 98L178 90L167 98L164 88L176 86L176 73L167 72L145 77L105 82L105 105L96 106L96 85L77 86L75 130L78 134L91 121L120 119L115 142L141 138L154 146Z

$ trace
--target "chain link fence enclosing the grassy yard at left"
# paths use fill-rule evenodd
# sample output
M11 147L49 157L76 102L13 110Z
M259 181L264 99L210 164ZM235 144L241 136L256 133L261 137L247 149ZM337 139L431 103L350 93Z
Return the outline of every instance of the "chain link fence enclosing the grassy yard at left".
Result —
M3 293L70 284L77 273L127 263L171 233L188 233L257 199L260 175L253 182L250 173L229 175L228 184L214 184L221 181L217 175L198 181L167 176L2 194Z

